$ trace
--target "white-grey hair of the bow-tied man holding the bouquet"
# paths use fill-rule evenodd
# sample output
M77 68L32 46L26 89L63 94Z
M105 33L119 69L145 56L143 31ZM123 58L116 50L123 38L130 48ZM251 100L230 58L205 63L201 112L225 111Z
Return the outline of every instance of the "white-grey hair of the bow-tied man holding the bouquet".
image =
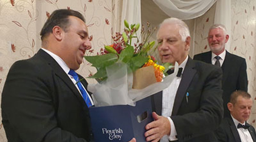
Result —
M182 20L180 20L178 18L175 18L175 17L167 18L167 19L163 20L162 23L160 23L159 27L161 28L161 26L163 26L165 24L170 24L170 25L171 24L175 24L175 25L178 25L180 27L179 33L180 33L182 41L186 41L186 38L190 37L189 27ZM157 31L157 36L158 36L159 29Z

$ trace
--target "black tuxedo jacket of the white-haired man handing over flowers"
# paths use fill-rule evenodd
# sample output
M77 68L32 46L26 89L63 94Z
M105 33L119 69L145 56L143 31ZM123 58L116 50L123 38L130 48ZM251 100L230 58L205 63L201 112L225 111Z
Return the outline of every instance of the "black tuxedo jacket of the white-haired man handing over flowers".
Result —
M219 67L189 57L171 116L179 142L217 141L214 130L218 128L223 115L221 78ZM189 93L188 101L186 93ZM161 114L162 92L152 97L153 110Z

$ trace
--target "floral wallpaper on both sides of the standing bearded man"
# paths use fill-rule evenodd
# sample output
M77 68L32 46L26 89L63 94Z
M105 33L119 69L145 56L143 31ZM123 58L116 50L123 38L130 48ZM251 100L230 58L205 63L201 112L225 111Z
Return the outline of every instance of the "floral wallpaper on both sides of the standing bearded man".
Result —
M228 51L246 59L248 75L248 92L252 95L254 105L249 123L256 127L256 1L231 1L231 33ZM195 19L194 55L209 51L207 35L214 22L215 5L201 17Z

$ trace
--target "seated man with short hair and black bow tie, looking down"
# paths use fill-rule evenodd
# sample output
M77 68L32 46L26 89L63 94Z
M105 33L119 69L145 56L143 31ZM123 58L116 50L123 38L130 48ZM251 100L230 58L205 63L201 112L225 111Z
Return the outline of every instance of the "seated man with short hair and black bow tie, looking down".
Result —
M232 93L227 103L231 117L224 118L215 132L219 142L256 142L255 129L246 122L252 105L249 93L241 90Z

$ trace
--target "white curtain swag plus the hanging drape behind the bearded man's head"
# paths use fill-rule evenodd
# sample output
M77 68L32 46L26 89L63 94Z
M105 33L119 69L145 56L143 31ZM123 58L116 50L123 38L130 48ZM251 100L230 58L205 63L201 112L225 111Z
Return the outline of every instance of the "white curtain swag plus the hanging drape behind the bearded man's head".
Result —
M199 17L216 3L215 24L223 24L231 38L231 0L153 0L170 17L188 20ZM226 43L230 49L230 40Z

